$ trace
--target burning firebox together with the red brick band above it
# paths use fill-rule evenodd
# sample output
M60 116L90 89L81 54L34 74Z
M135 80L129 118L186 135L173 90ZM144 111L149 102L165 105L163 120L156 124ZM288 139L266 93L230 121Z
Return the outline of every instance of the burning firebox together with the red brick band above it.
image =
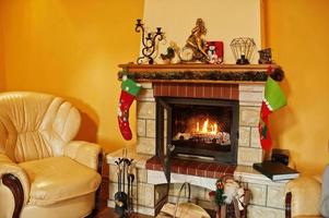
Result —
M154 83L153 87L157 153L169 143L176 158L236 164L237 85Z

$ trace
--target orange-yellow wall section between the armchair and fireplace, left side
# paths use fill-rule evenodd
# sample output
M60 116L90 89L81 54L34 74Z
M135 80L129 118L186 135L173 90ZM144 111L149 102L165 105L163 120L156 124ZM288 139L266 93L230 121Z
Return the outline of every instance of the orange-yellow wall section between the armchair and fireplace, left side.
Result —
M142 0L2 0L0 14L8 90L70 99L83 114L78 138L106 152L133 143L117 126L117 64L139 55Z

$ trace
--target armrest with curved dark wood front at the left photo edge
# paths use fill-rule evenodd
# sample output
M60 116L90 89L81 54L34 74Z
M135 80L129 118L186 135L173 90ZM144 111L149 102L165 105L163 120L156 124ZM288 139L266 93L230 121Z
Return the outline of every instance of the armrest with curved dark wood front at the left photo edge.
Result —
M30 180L26 172L4 154L0 154L0 185L12 192L15 203L13 217L20 217L23 204L26 204L30 197Z

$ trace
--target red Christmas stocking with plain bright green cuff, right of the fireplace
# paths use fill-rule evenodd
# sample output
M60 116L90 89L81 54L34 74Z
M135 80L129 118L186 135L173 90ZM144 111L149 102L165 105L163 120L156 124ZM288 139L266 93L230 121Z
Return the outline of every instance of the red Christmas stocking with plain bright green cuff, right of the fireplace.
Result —
M260 121L258 125L260 144L265 150L269 150L272 147L272 138L269 131L269 114L285 105L286 98L279 83L271 78L271 76L268 76L265 87L265 99L261 104Z

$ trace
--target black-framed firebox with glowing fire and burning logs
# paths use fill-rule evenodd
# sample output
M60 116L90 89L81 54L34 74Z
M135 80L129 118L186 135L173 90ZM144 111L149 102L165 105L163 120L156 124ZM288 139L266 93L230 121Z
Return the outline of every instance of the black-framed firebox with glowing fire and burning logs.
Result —
M156 150L173 157L236 164L238 100L156 98Z

